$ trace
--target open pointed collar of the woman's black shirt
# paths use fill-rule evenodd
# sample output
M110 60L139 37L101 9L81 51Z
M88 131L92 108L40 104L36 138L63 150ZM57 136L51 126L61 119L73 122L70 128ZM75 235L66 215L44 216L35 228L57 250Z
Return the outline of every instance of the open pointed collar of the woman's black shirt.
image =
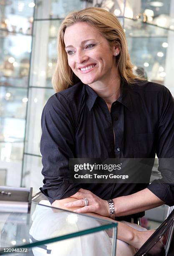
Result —
M132 85L127 84L126 82L124 82L123 79L121 79L121 94L120 97L117 99L118 102L123 104L129 110L132 110L132 102L130 96L131 86ZM98 95L88 84L85 84L85 87L87 92L87 105L89 111L91 111Z

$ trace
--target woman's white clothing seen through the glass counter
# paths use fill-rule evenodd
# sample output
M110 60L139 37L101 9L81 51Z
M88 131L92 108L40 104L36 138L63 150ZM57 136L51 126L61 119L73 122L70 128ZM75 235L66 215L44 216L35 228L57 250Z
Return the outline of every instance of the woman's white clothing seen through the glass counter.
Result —
M44 200L40 203L44 203ZM42 205L37 205L33 213L33 223L30 228L30 241L31 243L33 241L43 241L50 237L63 236L87 228L99 227L101 224L103 224L102 221L95 220L94 218L89 219L83 215L51 208L43 210ZM47 250L50 250L50 253L53 255L110 256L112 255L113 232L111 232L109 237L107 231L103 230L86 236L71 238L66 241L44 244L47 246ZM88 250L86 250L86 246L88 246ZM32 250L35 256L42 256L45 253L45 250L39 247L35 247Z

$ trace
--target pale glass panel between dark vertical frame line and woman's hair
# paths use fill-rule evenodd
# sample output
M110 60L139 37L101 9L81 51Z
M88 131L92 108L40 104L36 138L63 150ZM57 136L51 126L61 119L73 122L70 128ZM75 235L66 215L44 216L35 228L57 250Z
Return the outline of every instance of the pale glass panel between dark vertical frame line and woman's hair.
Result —
M30 86L52 87L60 23L60 20L35 21Z

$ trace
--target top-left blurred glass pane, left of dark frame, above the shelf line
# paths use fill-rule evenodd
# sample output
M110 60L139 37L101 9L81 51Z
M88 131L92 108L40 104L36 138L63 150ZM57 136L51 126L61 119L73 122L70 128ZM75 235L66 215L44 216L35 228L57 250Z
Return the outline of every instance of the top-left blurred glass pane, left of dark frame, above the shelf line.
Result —
M0 1L0 85L28 86L33 7L31 1Z

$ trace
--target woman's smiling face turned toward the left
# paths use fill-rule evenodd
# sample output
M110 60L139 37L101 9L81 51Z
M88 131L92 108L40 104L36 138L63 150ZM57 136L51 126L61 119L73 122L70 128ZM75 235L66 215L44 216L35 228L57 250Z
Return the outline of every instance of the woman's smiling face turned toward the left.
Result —
M110 46L88 23L75 23L66 28L64 43L68 65L84 84L107 83L117 74L115 54L119 54L119 48Z

